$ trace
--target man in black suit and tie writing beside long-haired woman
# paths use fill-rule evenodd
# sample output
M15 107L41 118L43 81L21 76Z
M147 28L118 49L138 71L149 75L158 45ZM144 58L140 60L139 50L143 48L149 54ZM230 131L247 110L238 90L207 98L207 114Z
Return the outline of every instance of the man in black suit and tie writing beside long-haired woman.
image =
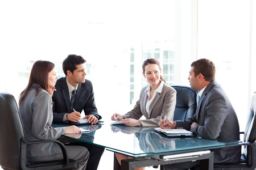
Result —
M94 101L92 82L85 79L85 59L75 54L69 55L63 61L65 77L57 80L53 101L53 123L63 124L77 122L84 111L90 124L97 124L101 119ZM73 92L74 91L74 92ZM69 145L84 146L88 149L90 157L86 169L97 169L104 147L90 145L89 143L69 141Z

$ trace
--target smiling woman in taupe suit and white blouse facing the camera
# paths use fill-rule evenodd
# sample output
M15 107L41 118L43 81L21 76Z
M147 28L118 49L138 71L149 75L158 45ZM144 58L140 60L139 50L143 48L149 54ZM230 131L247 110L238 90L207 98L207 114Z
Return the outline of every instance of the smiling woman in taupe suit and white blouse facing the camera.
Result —
M176 105L176 91L168 86L162 77L162 69L158 60L146 59L142 65L142 74L147 79L148 85L143 87L135 107L124 115L114 113L111 120L121 121L127 126L159 126L159 121L167 116L168 120L174 119ZM146 120L139 120L142 116ZM122 159L131 157L117 154L119 164ZM136 169L136 168L135 168ZM144 169L144 168L137 168Z

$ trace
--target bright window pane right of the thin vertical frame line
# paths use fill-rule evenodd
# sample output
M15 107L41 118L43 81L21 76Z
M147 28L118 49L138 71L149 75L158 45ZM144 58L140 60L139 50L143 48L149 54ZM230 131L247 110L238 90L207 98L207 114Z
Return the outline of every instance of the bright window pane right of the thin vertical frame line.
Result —
M251 62L256 57L255 45L252 48L251 44L256 30L252 27L256 24L253 1L199 0L197 11L197 57L209 58L216 64L216 80L228 94L242 131L251 95L256 91L255 60Z

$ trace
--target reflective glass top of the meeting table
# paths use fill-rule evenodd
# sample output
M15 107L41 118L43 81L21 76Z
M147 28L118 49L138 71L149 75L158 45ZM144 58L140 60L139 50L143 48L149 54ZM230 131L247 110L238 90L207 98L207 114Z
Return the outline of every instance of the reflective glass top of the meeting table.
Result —
M53 127L68 125L52 124ZM183 152L209 150L226 146L237 146L239 141L219 142L198 137L167 137L156 133L154 128L141 126L111 125L104 122L96 125L77 125L90 132L82 134L65 134L78 141L93 143L109 150L133 156L157 156L179 154Z

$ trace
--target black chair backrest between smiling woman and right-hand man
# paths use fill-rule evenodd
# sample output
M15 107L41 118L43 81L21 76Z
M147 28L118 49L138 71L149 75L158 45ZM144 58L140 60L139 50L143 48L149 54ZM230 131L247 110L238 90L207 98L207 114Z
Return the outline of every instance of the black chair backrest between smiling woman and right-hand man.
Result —
M174 120L184 120L196 113L197 92L188 86L172 86L176 92Z

